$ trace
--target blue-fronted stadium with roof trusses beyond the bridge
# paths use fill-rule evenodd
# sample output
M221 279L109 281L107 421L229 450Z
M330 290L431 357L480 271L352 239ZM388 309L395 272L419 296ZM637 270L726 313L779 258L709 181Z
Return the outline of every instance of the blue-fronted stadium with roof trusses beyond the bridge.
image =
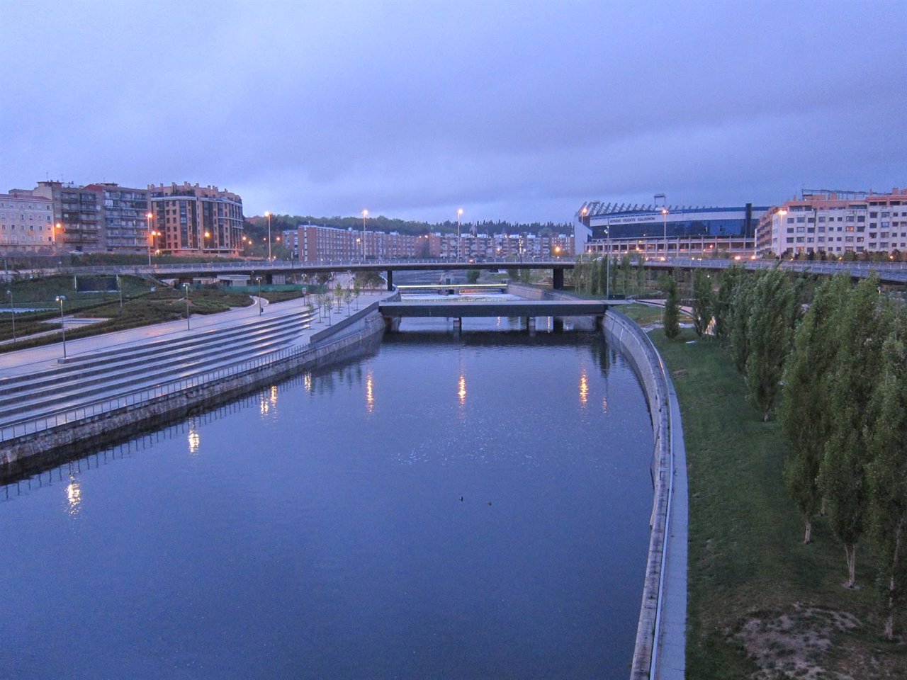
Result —
M752 203L697 208L659 205L658 201L651 205L590 201L576 213L575 243L578 253L677 257L718 251L752 256L756 226L767 210Z

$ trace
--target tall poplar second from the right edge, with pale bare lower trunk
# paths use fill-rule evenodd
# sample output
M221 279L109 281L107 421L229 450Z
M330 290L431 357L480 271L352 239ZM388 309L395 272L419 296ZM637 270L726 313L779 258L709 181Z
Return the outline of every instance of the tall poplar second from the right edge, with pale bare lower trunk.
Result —
M832 530L844 543L847 588L856 583L856 546L865 529L869 501L866 467L870 462L866 432L875 424L870 402L878 380L873 368L879 365L889 321L877 287L877 277L863 279L833 321L832 426L819 466L819 486Z

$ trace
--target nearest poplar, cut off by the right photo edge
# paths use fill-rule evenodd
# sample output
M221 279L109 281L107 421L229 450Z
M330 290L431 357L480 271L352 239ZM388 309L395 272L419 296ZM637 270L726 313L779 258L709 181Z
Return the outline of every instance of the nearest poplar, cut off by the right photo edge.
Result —
M883 591L883 634L894 637L894 615L907 602L907 352L904 331L892 331L883 345L882 378L873 396L878 420L865 435L873 461L867 466L870 523L879 546Z

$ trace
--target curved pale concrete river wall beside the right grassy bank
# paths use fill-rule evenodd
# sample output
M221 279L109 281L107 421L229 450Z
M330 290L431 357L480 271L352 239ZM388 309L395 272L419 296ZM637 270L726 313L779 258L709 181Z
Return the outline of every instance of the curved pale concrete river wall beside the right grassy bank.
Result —
M533 300L574 299L567 293L510 284L507 292ZM605 337L639 376L652 420L654 493L649 554L639 609L631 680L682 680L687 622L687 472L677 393L649 336L629 316L610 309Z

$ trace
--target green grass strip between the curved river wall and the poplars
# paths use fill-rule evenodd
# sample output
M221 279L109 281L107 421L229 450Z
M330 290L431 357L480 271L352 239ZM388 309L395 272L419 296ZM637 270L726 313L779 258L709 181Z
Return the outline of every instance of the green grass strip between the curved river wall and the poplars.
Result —
M827 520L819 518L813 542L803 544L803 522L782 479L780 426L762 423L746 402L727 351L711 340L690 343L691 330L674 342L660 330L650 335L673 375L687 442L687 677L750 677L759 670L756 653L763 670L775 674L766 677L802 676L805 667L829 677L907 677L907 645L881 637L872 549L859 545L860 588L850 590L842 586L844 546ZM845 625L851 620L859 625ZM781 642L765 633L785 622L791 630ZM741 634L753 629L764 633L749 639L747 654ZM798 651L798 631L830 638L831 647Z

